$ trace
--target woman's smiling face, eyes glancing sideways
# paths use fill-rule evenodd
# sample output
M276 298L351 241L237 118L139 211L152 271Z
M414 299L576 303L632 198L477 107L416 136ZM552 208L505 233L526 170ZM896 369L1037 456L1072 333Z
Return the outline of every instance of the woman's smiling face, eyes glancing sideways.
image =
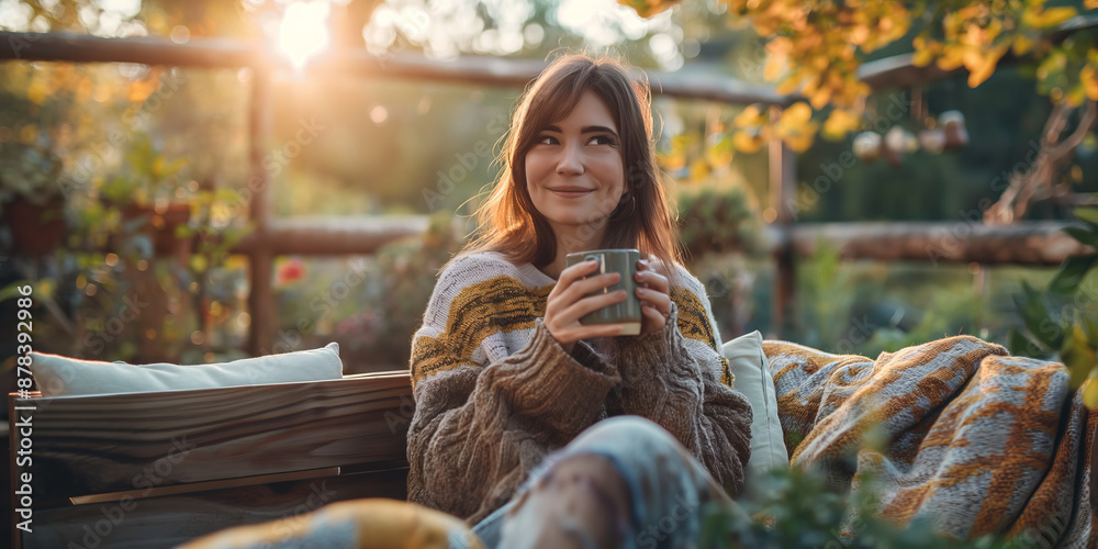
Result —
M564 120L539 130L526 154L526 189L558 235L605 227L625 191L625 169L614 116L594 92L585 91Z

